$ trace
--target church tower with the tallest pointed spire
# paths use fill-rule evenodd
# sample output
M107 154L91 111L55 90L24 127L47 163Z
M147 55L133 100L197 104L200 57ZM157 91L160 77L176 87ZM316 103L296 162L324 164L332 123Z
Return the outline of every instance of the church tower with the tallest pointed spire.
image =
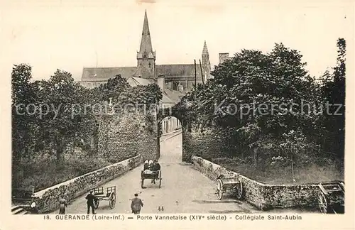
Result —
M134 77L155 78L155 51L149 32L147 11L144 14L141 48L137 53L137 71Z

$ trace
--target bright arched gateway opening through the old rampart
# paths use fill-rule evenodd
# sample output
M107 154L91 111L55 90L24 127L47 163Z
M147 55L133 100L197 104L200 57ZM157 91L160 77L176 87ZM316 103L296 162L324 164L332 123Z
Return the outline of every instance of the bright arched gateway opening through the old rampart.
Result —
M182 162L182 124L175 116L165 116L159 122L159 161L165 164Z

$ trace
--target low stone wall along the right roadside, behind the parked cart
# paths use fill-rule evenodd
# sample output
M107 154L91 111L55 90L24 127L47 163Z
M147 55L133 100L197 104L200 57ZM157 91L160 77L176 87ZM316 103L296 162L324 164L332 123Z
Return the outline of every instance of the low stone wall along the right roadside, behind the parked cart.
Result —
M191 160L197 170L212 180L216 180L222 173L231 172L197 156L192 156ZM315 207L317 205L317 192L319 192L317 185L265 185L243 175L240 175L240 179L244 189L242 199L258 209Z

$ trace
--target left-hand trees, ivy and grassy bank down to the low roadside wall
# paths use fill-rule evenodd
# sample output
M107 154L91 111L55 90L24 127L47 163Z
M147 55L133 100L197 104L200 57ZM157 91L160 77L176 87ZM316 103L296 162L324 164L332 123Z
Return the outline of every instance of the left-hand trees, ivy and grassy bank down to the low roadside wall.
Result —
M104 104L111 100L121 106L141 104L149 108L163 97L158 85L131 87L120 75L94 89L82 87L63 70L48 80L31 80L31 66L13 67L13 186L35 185L36 190L124 160L105 161L94 155L101 116L98 110ZM152 131L153 115L148 111L146 117L146 123L151 124L147 128ZM82 155L70 153L75 147L81 148ZM50 155L45 162L38 161L42 152Z

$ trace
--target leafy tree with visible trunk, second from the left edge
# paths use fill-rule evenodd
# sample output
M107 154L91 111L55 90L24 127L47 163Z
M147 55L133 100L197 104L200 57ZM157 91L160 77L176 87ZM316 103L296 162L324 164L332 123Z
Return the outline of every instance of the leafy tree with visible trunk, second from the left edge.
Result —
M38 105L43 104L46 109L39 120L40 132L48 143L54 143L58 163L62 162L65 147L92 128L88 125L92 114L75 111L85 102L84 92L69 72L61 70L50 80L39 82Z

